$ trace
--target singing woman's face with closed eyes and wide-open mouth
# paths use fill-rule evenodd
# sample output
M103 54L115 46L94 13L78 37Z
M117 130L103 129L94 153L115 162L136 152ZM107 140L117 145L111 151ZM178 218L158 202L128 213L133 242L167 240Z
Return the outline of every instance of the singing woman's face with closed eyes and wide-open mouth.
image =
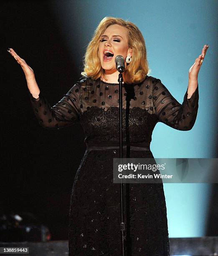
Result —
M122 55L125 61L127 55L132 56L132 49L128 46L127 33L127 28L114 24L106 28L101 36L98 54L105 74L117 72L114 61L117 55Z

